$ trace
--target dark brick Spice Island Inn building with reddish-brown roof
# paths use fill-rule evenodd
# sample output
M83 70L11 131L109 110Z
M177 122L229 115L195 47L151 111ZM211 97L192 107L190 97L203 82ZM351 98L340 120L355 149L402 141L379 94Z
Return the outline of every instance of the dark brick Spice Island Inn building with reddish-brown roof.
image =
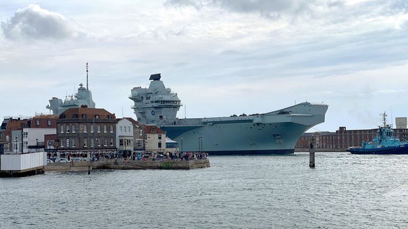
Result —
M61 157L84 158L115 153L116 124L115 114L105 109L69 108L57 120L58 153Z

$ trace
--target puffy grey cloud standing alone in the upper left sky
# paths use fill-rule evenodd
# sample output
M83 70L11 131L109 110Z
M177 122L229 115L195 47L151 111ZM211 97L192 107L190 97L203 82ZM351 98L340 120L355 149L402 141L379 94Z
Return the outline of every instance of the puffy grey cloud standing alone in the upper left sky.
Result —
M38 5L19 9L5 22L0 23L4 36L10 40L79 38L85 35L74 21L59 13L41 9Z

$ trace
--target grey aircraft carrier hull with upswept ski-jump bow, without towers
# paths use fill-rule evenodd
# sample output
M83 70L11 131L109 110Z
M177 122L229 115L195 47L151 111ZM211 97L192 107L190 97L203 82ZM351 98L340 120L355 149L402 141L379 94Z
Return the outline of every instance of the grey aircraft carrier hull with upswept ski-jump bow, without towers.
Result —
M291 110L304 113L289 113ZM259 116L179 119L160 128L179 141L182 151L211 155L292 154L299 137L324 122L326 110L325 104L301 103Z

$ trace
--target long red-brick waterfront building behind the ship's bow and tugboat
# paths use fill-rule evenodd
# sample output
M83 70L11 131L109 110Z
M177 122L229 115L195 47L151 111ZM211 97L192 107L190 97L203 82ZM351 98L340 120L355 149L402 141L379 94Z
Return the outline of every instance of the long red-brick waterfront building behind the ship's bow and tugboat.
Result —
M312 138L315 140L315 148L346 150L349 147L361 146L362 141L372 141L377 136L377 130L346 130L339 127L336 132L304 133L296 143L296 149L308 149ZM408 129L394 129L394 137L408 139ZM329 150L330 151L330 150Z

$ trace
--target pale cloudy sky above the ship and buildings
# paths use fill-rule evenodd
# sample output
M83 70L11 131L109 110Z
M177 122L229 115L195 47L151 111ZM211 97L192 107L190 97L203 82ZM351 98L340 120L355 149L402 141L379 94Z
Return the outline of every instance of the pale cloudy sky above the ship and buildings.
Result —
M408 0L0 0L0 117L49 112L86 83L98 108L161 73L178 117L329 105L310 131L408 117ZM123 110L123 112L122 112ZM395 122L395 121L393 121Z

